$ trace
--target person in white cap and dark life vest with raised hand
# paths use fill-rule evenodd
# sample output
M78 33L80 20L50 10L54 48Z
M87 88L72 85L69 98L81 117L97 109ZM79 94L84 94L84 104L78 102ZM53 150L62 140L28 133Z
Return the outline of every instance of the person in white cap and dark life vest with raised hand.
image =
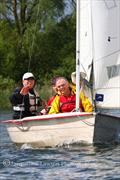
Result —
M31 72L22 77L22 87L16 88L10 96L13 106L13 119L37 115L38 107L45 105L35 90L36 80Z

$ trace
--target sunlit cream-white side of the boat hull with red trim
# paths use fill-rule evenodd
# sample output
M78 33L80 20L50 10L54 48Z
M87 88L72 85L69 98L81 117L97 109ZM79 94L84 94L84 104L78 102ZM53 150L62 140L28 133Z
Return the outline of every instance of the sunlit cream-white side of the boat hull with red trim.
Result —
M8 120L12 142L36 147L93 143L95 116L92 113L61 113Z

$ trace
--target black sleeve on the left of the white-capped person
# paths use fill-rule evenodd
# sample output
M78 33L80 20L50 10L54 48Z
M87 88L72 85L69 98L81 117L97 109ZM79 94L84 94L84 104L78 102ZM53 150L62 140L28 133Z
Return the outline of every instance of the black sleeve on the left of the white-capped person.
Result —
M10 102L12 105L21 104L23 102L23 95L20 94L21 88L16 88L10 96Z

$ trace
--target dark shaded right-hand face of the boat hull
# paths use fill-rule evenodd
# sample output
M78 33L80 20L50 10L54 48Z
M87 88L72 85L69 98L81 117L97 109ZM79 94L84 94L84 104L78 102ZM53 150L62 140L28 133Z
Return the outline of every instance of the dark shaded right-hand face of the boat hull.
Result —
M94 144L120 144L120 117L97 114L95 117Z

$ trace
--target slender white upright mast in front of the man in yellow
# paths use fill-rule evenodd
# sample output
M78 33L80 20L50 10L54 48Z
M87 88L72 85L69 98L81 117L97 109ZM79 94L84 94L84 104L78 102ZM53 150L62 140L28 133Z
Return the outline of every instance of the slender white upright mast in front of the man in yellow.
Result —
M76 111L80 104L80 0L76 0Z

